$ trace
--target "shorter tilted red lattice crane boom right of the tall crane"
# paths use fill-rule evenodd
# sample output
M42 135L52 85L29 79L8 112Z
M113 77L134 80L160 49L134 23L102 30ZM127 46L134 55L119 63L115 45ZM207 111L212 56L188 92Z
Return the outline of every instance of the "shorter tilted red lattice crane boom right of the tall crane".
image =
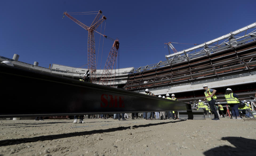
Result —
M105 67L101 74L101 79L99 80L100 85L107 85L108 81L110 80L110 86L111 86L112 70L113 70L115 61L117 59L118 48L119 48L119 42L116 39L109 52L109 56L107 57ZM113 86L114 86L114 83L113 83Z

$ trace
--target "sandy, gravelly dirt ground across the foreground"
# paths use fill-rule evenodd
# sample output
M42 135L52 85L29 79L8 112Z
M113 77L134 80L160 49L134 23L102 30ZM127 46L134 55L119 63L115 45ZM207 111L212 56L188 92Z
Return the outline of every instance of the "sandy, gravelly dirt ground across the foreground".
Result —
M0 120L0 155L256 155L256 119Z

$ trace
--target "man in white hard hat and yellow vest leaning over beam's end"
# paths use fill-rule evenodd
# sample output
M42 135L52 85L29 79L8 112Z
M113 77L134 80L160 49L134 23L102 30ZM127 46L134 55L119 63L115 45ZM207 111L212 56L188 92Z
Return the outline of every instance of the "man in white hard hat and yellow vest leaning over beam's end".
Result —
M210 89L208 88L207 85L203 85L203 89L205 90L205 99L204 100L207 100L209 105L210 105L210 108L211 110L213 111L213 114L214 114L214 118L212 120L219 120L219 116L218 116L218 113L216 111L216 107L215 107L215 99L217 99L215 93L216 93L216 90L215 89Z

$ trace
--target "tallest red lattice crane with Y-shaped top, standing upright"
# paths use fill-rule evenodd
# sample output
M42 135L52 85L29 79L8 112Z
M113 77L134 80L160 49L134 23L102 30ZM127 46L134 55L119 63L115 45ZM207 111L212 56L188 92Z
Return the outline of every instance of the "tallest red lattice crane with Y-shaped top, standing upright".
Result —
M68 13L64 12L63 15L66 15L72 21L83 27L85 30L88 31L88 70L91 73L91 80L93 83L96 83L96 56L95 56L95 40L94 40L94 31L97 30L99 25L106 19L105 16L101 16L102 11L99 10L98 14L96 15L94 21L91 23L91 26L88 27L84 25L82 22L79 22L77 19L69 15ZM97 32L97 31L96 31Z

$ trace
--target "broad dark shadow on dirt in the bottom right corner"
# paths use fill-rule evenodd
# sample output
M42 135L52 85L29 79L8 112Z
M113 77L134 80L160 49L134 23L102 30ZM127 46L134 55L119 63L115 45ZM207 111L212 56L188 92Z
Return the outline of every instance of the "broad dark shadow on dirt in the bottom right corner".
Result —
M222 140L227 140L235 147L231 146L219 146L208 151L205 151L203 154L206 156L241 156L241 155L256 155L256 140L247 139L242 137L223 137Z

